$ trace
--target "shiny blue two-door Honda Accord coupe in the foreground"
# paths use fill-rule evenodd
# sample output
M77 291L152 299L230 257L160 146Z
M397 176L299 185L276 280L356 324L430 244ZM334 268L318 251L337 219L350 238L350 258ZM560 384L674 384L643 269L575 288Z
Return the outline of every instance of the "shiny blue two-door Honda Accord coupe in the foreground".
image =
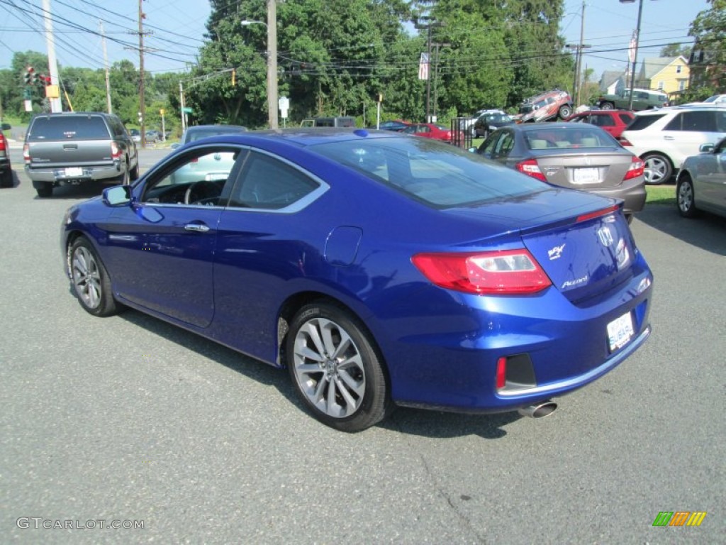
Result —
M544 416L650 334L621 201L392 132L197 140L72 206L61 243L86 311L287 367L346 432L397 405Z

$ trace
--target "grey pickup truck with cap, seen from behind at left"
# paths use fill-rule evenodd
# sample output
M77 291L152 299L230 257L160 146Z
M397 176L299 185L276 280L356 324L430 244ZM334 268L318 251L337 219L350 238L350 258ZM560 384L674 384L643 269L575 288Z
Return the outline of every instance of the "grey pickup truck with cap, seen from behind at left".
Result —
M101 112L43 113L30 121L23 145L25 173L39 197L62 184L128 184L139 177L139 155L117 116Z

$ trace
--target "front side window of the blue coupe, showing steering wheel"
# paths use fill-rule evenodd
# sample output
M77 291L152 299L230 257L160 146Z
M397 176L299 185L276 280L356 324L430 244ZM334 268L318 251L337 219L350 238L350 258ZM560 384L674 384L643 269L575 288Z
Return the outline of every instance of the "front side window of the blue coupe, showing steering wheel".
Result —
M222 191L240 150L197 148L177 158L173 165L149 179L141 201L192 206L224 206ZM232 185L233 180L229 180Z

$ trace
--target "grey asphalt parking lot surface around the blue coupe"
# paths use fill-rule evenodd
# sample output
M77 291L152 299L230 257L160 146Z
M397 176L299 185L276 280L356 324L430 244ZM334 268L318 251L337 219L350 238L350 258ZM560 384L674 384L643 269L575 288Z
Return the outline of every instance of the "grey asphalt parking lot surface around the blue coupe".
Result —
M143 153L142 167L165 152ZM346 435L304 411L285 371L139 312L83 312L60 222L98 191L36 198L17 148L12 159L15 187L0 189L0 542L726 542L725 220L674 206L637 215L653 334L552 416L401 409ZM660 512L706 516L654 527Z

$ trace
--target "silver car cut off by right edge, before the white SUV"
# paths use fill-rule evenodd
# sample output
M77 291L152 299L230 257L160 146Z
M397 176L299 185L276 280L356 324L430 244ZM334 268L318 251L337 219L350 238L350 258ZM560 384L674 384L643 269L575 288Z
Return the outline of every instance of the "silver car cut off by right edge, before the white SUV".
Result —
M683 217L696 217L701 210L726 217L726 138L703 144L700 151L685 158L678 172L678 211Z

